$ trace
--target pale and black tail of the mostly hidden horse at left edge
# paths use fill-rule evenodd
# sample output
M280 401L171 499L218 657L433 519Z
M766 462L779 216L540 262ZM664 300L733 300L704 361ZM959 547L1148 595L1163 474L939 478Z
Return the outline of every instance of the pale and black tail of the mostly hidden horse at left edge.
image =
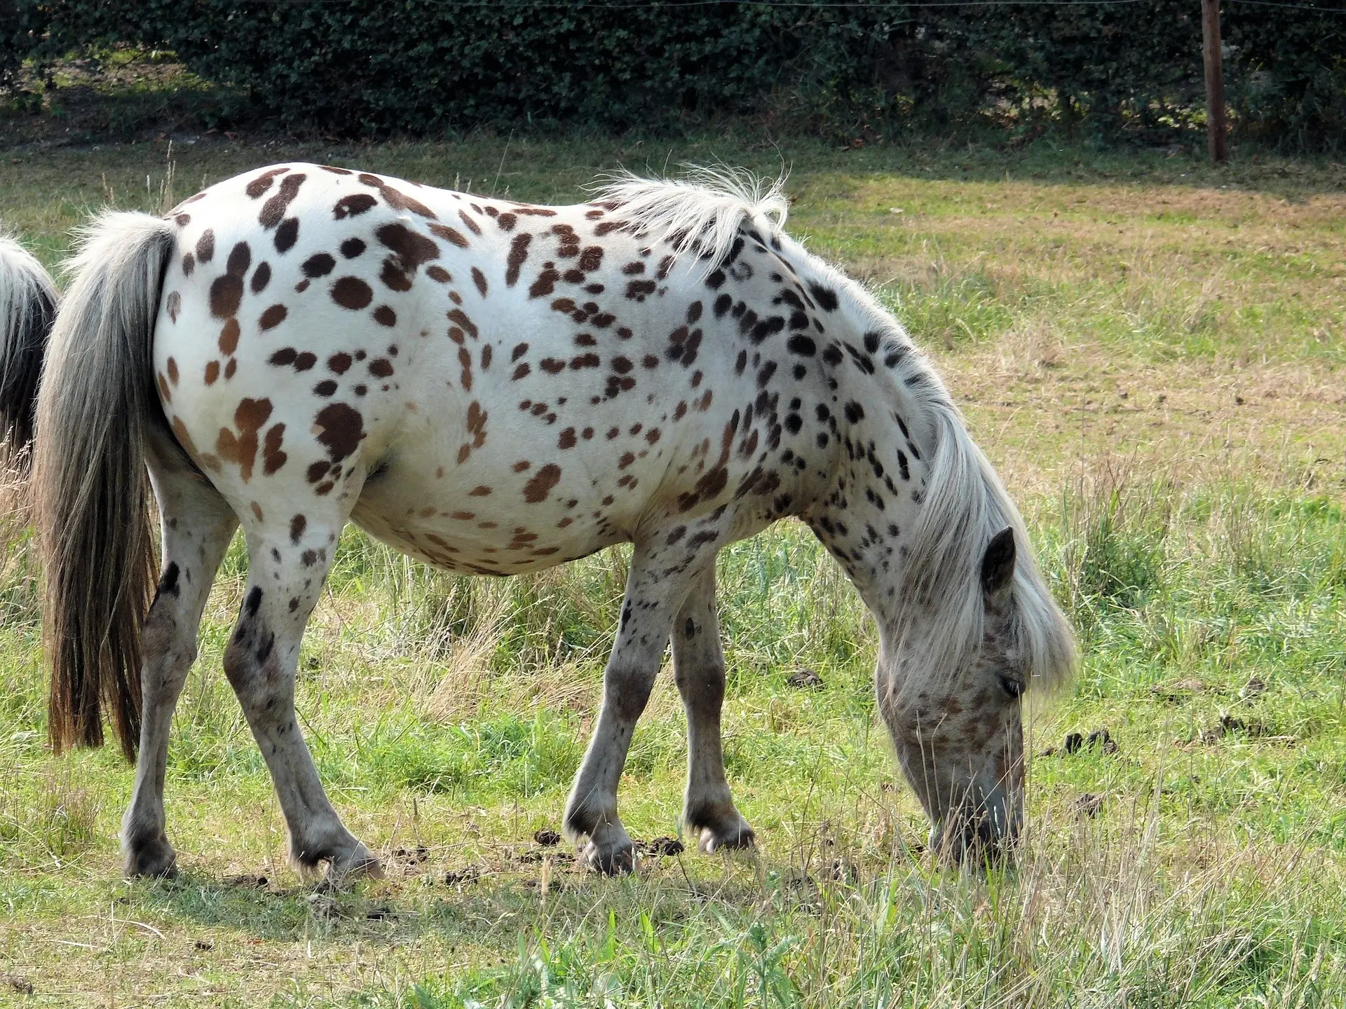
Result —
M57 317L51 277L19 242L0 234L0 439L5 461L28 467L38 377Z

